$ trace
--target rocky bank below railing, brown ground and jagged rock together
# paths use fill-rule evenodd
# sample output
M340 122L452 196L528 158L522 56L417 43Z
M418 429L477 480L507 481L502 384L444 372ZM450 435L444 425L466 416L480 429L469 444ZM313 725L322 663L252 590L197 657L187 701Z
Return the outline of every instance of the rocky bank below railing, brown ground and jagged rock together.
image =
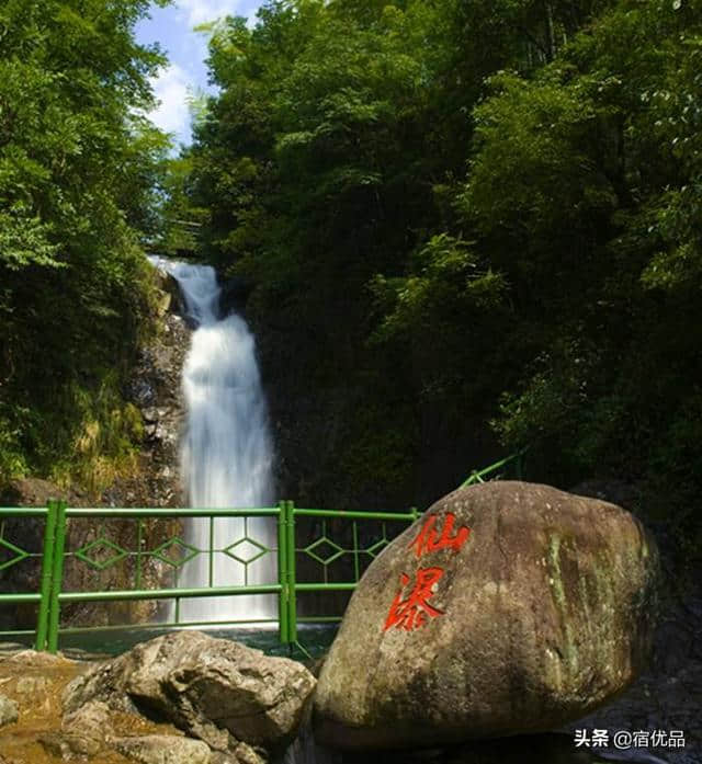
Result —
M195 631L86 663L0 658L0 763L267 764L309 708L299 663Z

